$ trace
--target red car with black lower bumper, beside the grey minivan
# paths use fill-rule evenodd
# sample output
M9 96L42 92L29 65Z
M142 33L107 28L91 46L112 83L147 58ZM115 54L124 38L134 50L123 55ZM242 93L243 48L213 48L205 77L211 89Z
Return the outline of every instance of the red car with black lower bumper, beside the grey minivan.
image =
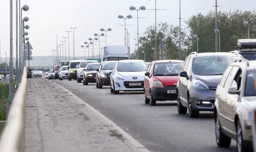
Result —
M152 61L144 79L145 103L177 100L176 85L182 70L182 60Z

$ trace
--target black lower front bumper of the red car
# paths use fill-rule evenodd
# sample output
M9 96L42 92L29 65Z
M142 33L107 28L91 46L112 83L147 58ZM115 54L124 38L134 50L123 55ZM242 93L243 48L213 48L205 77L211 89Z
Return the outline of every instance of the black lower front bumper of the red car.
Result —
M175 90L176 92L176 86L167 86L164 88L151 88L151 94L152 98L156 101L176 101L177 100L177 94L168 94L168 90Z

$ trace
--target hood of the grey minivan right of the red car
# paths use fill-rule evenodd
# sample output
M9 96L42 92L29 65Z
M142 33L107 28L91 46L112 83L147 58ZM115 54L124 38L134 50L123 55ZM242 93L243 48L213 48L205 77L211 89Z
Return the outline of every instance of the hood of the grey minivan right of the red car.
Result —
M194 80L205 83L208 87L217 87L222 75L193 75Z

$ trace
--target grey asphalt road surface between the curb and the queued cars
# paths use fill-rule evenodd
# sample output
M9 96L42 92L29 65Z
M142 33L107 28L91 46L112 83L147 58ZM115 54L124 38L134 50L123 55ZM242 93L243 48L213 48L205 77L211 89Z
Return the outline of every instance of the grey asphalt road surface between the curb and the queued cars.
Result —
M113 95L109 87L97 89L64 80L51 80L100 111L151 152L236 152L218 148L215 142L212 112L201 112L199 118L177 113L176 101L158 101L156 106L144 103L142 92Z

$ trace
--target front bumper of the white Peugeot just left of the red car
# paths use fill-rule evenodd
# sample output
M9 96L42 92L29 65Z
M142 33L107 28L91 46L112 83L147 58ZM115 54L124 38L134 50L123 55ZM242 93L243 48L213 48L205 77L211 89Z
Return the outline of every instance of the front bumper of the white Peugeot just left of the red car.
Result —
M144 91L144 81L114 81L116 91ZM141 86L129 87L129 83L141 83Z

